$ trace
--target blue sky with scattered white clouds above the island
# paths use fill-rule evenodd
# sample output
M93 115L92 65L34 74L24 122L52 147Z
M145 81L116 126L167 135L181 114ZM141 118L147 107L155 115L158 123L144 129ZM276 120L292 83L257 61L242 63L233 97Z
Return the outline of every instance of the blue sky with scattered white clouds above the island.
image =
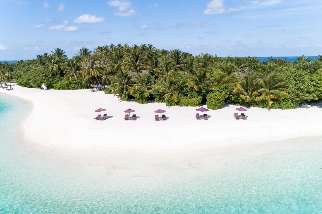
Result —
M0 8L6 60L117 43L194 55L322 54L321 0L3 0Z

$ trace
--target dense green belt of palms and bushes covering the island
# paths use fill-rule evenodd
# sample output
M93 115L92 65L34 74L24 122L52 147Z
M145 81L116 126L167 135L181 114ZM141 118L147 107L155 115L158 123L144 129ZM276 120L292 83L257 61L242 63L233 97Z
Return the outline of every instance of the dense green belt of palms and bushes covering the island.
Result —
M105 93L122 100L149 99L167 106L199 106L218 109L226 102L265 108L296 108L302 102L322 99L322 56L290 62L256 57L220 58L193 56L178 49L159 50L142 44L82 48L68 59L56 48L29 61L0 64L1 81L17 81L23 87L73 90L105 83ZM113 92L112 92L113 91Z

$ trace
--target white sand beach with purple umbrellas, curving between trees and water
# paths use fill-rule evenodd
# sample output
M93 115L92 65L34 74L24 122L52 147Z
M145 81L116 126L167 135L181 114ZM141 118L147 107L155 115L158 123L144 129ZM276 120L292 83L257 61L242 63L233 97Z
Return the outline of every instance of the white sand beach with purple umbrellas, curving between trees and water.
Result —
M321 135L321 105L292 110L251 107L247 120L236 120L238 106L207 112L209 120L196 120L197 107L166 107L164 103L124 102L103 91L46 90L14 86L0 89L33 104L22 123L24 140L38 150L86 157L110 167L175 162L244 150L261 143ZM206 106L204 106L206 107ZM94 121L95 109L105 108L109 118ZM124 121L124 110L134 109L136 121ZM164 109L167 121L155 121ZM240 112L238 112L240 114Z

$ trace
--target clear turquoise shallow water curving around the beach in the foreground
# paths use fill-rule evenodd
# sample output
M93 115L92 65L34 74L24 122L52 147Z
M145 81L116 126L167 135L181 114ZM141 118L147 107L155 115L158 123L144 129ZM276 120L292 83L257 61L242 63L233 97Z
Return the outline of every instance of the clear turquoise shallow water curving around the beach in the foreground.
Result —
M321 138L207 157L168 176L109 178L24 142L30 110L0 93L0 213L322 213Z

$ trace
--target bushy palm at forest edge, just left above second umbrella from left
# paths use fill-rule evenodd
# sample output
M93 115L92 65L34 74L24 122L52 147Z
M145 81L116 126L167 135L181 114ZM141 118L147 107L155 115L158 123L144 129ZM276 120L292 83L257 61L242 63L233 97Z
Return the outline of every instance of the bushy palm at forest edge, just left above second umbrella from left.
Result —
M111 84L110 86L113 89L113 95L129 94L135 83L134 76L128 74L124 68L119 69L118 73L112 77L111 80L115 81L115 83Z

